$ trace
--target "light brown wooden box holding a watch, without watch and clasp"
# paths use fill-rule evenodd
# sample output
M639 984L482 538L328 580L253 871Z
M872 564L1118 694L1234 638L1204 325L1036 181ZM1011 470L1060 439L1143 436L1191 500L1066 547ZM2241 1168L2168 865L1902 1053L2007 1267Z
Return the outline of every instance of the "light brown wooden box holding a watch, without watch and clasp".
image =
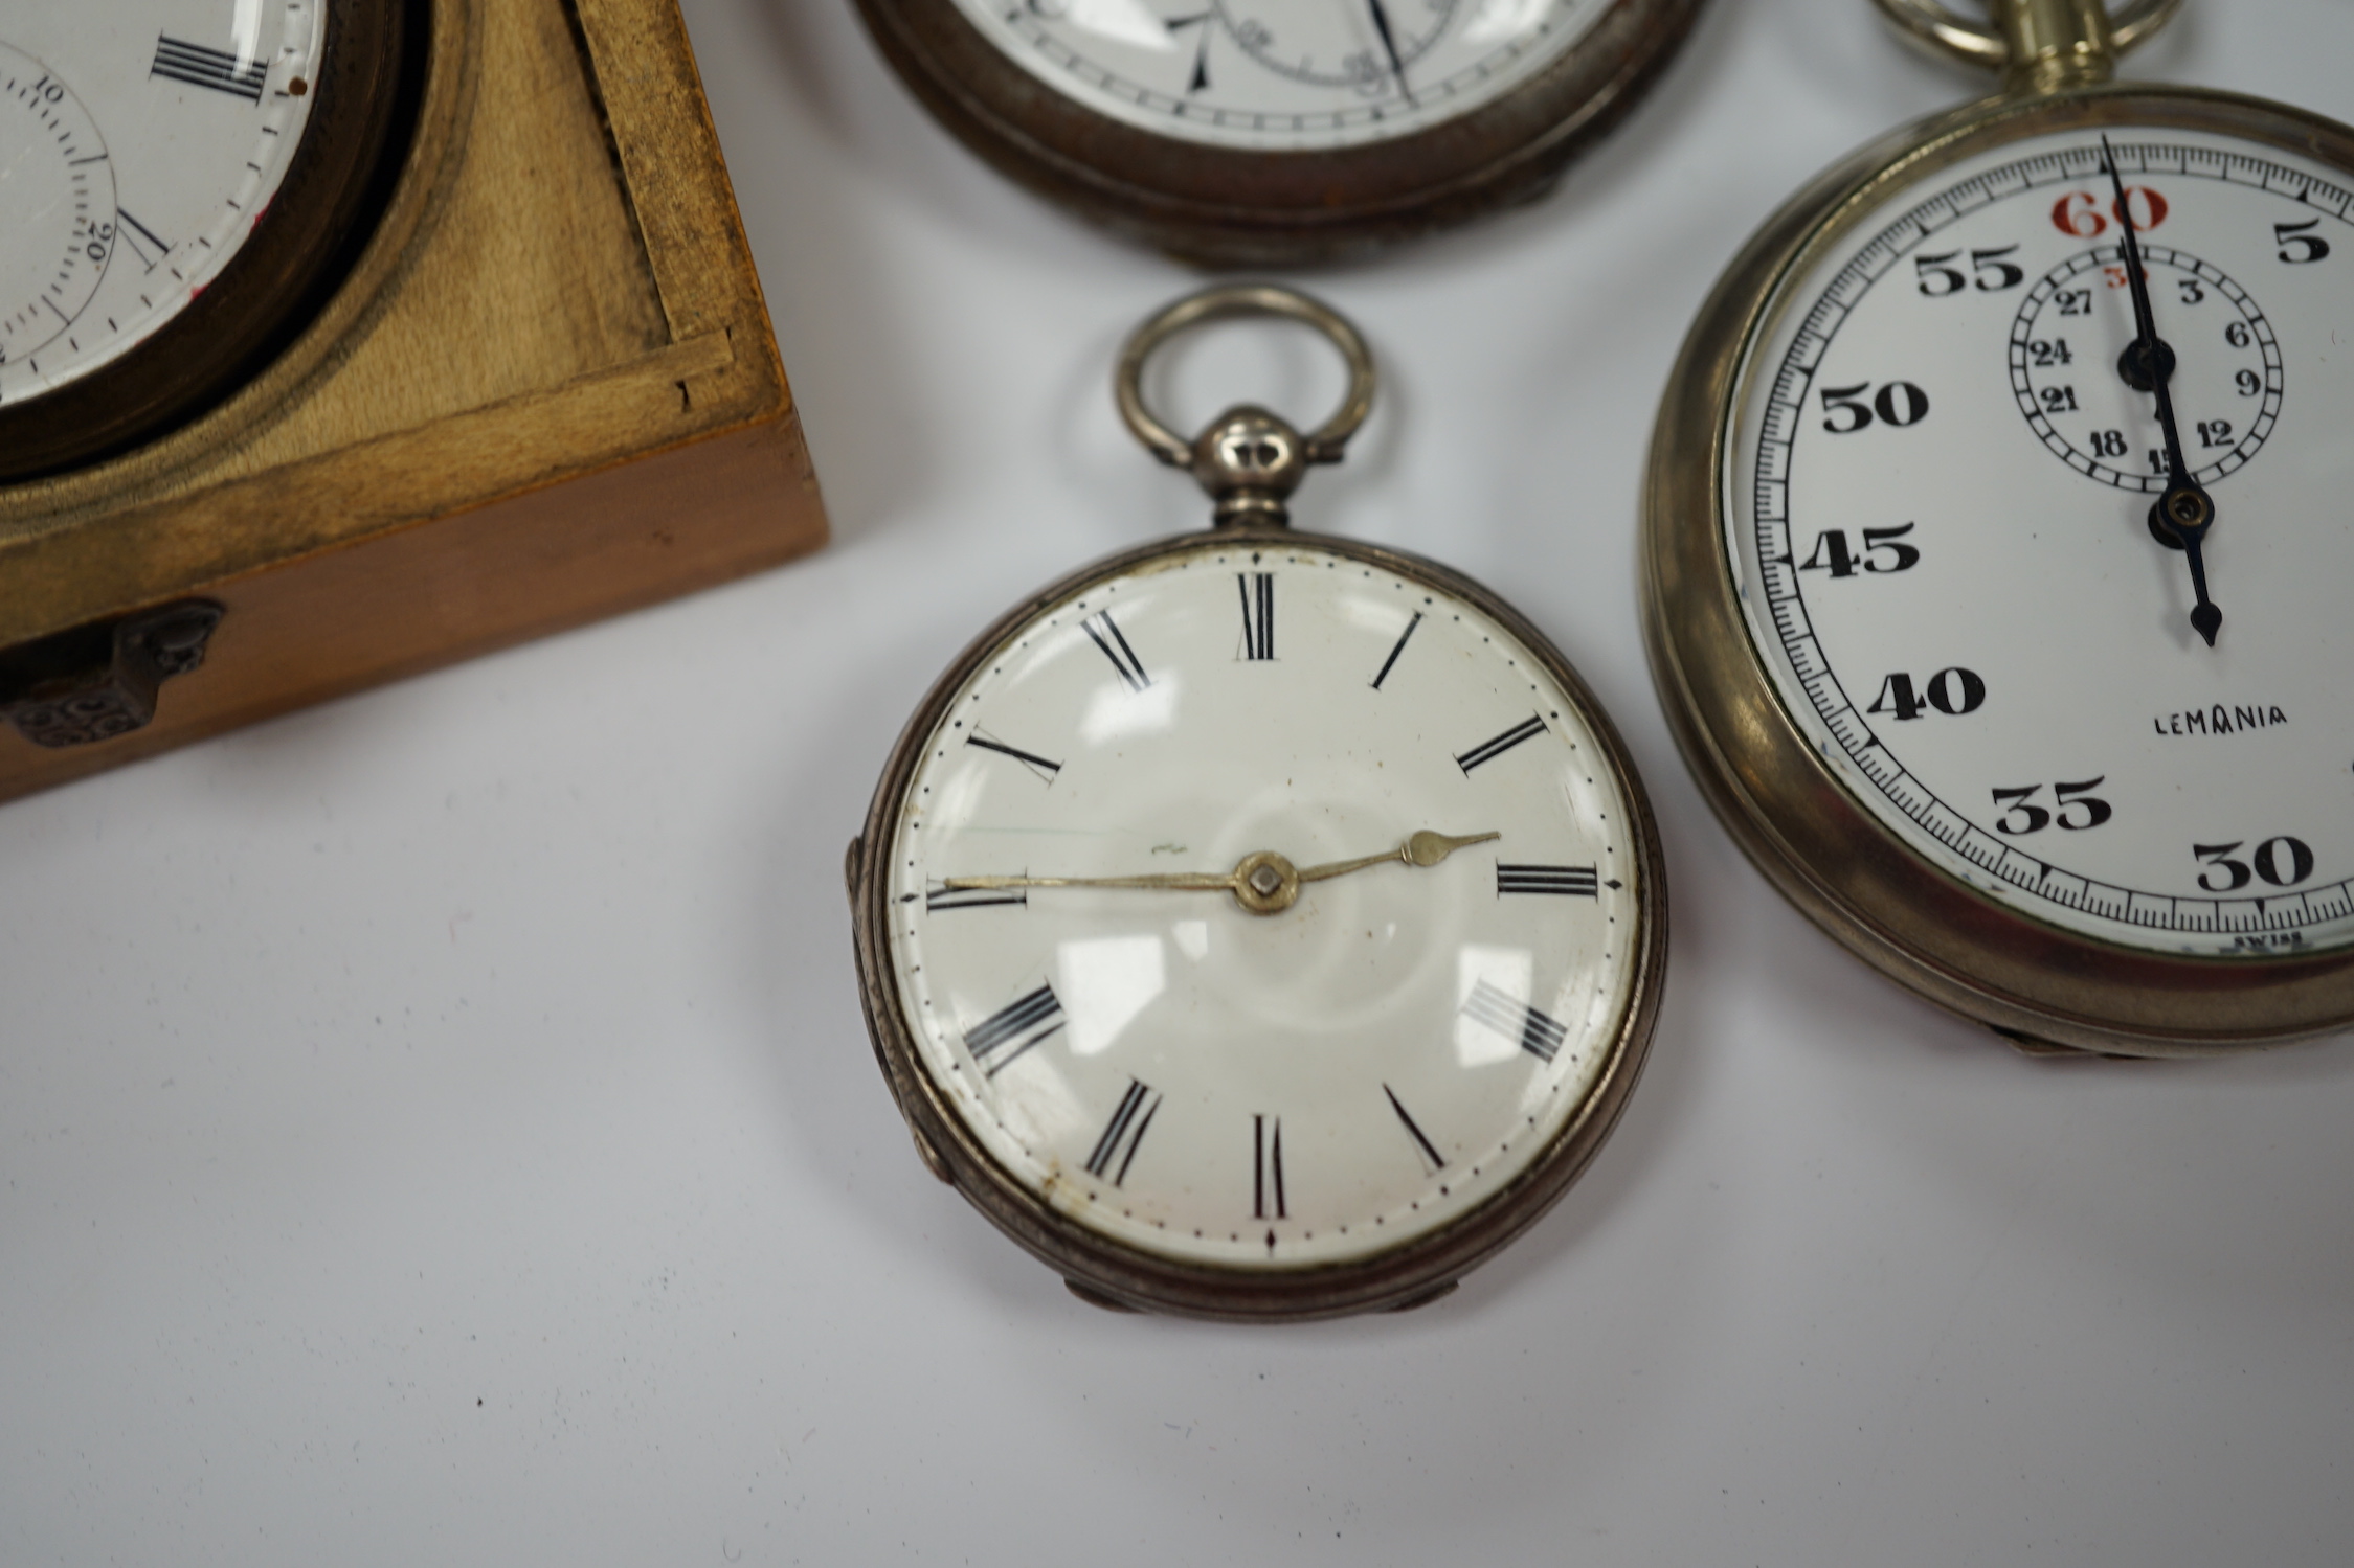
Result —
M0 670L224 609L146 726L0 726L0 799L824 543L676 0L428 5L322 315L193 425L0 489Z

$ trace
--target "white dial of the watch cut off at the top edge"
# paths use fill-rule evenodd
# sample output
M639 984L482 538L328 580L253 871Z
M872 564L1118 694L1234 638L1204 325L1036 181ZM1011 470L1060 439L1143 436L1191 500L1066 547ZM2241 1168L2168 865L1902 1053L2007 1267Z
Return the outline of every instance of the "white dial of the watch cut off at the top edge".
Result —
M1339 148L1495 103L1608 0L958 0L1024 71L1128 125L1226 148Z

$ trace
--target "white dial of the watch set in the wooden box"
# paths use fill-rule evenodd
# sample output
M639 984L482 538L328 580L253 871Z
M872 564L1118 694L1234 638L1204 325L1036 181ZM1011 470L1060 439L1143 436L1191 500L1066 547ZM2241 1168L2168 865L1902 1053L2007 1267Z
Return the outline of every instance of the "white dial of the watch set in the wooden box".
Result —
M221 275L308 125L327 0L0 0L0 402Z

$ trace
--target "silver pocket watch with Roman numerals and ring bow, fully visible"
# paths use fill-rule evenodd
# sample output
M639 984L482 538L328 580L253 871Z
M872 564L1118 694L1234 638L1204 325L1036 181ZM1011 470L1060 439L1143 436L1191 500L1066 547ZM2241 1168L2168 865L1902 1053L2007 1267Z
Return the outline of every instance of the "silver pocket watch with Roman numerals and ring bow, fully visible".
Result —
M1144 357L1217 315L1328 334L1342 411L1161 425ZM1643 788L1502 599L1285 527L1372 400L1344 320L1212 289L1118 386L1217 529L1045 588L916 710L847 865L876 1053L930 1168L1090 1302L1436 1300L1634 1088L1667 961Z

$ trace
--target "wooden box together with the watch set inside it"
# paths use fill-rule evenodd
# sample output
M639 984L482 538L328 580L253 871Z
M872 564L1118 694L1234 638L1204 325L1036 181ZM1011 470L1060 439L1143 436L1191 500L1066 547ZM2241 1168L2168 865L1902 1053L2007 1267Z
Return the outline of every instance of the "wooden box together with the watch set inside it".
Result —
M822 536L671 0L0 0L0 797Z

